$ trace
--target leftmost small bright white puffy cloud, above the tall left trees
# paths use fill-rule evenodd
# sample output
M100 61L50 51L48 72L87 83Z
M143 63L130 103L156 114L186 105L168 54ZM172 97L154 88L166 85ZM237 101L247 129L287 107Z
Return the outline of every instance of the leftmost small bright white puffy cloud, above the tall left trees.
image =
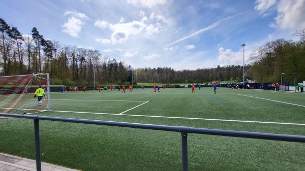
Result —
M63 31L68 33L68 35L72 37L78 37L78 34L81 31L81 25L83 25L80 19L75 17L71 17L68 19L68 22L65 22L62 27L64 27Z

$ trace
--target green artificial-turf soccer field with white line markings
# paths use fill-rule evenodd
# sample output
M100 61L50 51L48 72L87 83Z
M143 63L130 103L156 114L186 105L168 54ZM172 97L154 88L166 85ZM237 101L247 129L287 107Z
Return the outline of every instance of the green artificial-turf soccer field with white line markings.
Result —
M218 88L51 93L36 115L305 135L305 94ZM32 99L31 99L32 100ZM33 120L0 120L0 152L35 158ZM42 161L81 170L181 170L177 132L40 121ZM305 144L188 135L189 170L304 170Z

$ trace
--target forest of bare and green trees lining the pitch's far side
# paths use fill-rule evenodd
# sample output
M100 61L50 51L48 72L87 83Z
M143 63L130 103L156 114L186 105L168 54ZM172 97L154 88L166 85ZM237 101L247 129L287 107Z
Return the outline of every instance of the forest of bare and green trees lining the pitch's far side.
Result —
M305 81L305 28L293 35L299 41L278 39L252 49L252 63L246 64L245 81ZM204 83L243 80L242 65L228 65L175 71L170 66L133 69L124 61L110 59L98 50L63 45L45 40L33 27L22 35L17 27L0 18L0 76L49 73L51 85L121 85L138 83Z

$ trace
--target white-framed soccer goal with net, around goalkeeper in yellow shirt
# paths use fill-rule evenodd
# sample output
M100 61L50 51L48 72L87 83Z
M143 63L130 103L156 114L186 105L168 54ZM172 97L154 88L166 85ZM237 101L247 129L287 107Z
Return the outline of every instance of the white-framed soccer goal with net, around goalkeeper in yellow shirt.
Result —
M42 105L38 105L35 91L45 91ZM0 113L31 114L50 110L50 83L48 73L0 77Z

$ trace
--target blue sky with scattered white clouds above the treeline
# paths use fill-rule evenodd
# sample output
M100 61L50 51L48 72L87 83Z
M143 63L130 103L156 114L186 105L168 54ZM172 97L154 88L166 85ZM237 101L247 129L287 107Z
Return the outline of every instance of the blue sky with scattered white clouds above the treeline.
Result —
M0 18L133 69L181 71L251 64L255 47L298 41L305 0L0 0Z

